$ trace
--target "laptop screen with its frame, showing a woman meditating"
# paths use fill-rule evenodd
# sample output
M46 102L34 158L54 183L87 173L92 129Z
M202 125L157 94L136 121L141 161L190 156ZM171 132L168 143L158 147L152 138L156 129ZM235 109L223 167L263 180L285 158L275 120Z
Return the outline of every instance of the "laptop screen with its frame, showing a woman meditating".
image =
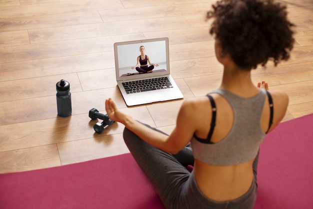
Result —
M114 59L116 80L169 74L168 38L115 43Z

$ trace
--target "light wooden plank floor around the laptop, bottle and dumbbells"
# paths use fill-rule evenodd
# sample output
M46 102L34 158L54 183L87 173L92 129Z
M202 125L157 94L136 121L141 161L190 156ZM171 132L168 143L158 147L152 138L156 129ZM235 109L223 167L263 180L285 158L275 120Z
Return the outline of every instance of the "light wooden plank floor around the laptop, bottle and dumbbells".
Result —
M170 132L183 100L126 107L116 87L113 43L169 38L170 69L184 99L220 84L204 0L0 0L0 173L76 163L128 152L123 126L93 131L88 111L105 98ZM284 121L313 113L313 1L285 0L296 24L288 62L252 79L289 95ZM72 115L57 116L55 84L70 83ZM297 140L297 139L295 139Z

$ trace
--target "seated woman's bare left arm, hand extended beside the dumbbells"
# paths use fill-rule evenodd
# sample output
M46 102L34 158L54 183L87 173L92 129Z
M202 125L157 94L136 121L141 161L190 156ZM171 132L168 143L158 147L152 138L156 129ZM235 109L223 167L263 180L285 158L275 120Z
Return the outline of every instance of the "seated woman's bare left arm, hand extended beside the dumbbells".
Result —
M181 106L176 127L169 136L154 131L134 120L130 115L122 113L110 98L105 100L105 110L111 120L124 124L142 140L168 153L175 154L180 151L194 133L192 114L189 113L191 107L188 107L187 102Z

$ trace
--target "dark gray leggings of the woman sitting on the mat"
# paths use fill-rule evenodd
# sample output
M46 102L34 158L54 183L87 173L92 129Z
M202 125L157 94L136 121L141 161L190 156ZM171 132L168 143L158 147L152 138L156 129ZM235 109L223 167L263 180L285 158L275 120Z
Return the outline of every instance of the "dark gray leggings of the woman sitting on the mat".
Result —
M155 128L151 129L161 132ZM186 166L193 165L194 161L190 147L184 147L175 155L169 154L144 142L126 128L123 138L130 153L156 188L166 209L253 208L256 200L258 155L253 162L254 181L250 189L237 199L217 202L201 193L193 172L186 169Z

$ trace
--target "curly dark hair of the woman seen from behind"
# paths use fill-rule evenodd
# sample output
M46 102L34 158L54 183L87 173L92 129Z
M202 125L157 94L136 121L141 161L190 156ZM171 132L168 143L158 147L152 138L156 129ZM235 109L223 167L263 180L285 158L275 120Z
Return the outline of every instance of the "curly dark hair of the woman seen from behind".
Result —
M245 70L265 66L272 60L288 60L294 26L287 20L286 7L272 0L221 0L212 5L210 34L215 35L223 53Z

